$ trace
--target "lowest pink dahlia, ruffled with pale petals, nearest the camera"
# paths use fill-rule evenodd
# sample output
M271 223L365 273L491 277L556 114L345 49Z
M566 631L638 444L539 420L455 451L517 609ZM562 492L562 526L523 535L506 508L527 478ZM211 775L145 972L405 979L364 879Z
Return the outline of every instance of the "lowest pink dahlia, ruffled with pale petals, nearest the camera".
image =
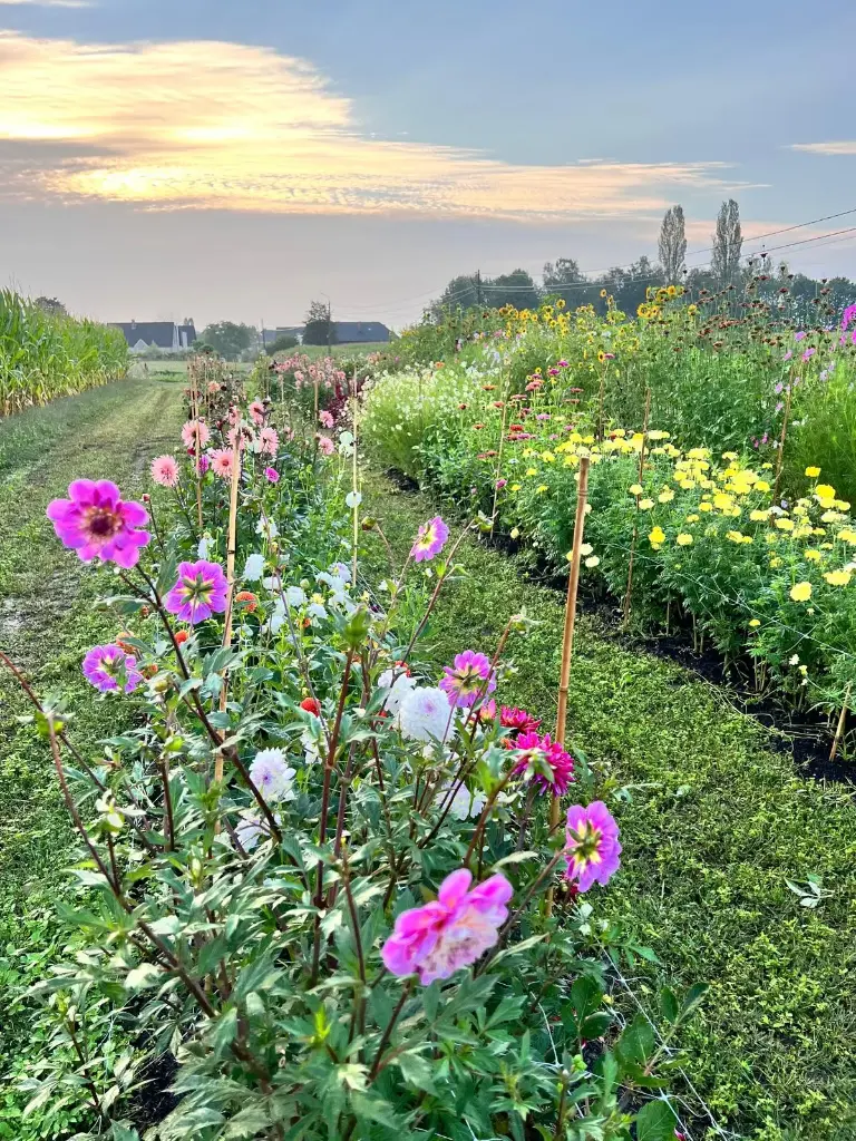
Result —
M436 900L402 912L381 950L388 971L418 974L427 987L495 946L499 928L508 919L511 884L496 874L470 890L471 881L471 873L459 868L443 881Z

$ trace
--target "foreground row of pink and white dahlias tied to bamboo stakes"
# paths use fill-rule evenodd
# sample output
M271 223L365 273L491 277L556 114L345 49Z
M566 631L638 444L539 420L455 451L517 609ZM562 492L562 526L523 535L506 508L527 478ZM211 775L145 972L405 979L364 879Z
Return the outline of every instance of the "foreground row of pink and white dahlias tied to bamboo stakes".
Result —
M527 620L420 657L470 528L428 520L375 596L353 435L264 400L203 420L199 395L145 502L81 478L48 507L114 567L122 629L82 670L135 728L80 748L27 690L81 859L67 955L22 997L50 1028L25 1119L130 1141L168 1058L163 1141L671 1141L703 988L665 988L660 1030L608 1000L651 952L598 913L622 853L586 758L496 704Z

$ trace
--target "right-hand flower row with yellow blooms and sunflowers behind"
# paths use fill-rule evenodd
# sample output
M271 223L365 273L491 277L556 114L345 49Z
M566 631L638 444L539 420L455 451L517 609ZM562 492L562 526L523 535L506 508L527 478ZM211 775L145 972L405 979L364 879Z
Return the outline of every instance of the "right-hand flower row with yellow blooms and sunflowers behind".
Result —
M668 305L667 296L653 318L667 331L698 319L687 308L670 316ZM696 642L706 637L728 661L749 659L759 694L774 688L799 705L839 709L856 681L848 501L856 468L848 422L840 422L853 400L856 310L834 330L768 337L757 351L732 345L722 354L676 354L671 394L683 395L665 424L680 421L680 446L652 412L655 391L661 406L664 397L645 354L653 359L662 349L652 339L668 339L646 327L649 311L632 325L608 314L600 323L589 311L548 315L548 331L542 318L511 316L531 327L511 330L501 347L500 339L476 341L446 362L375 377L362 410L375 456L447 502L463 499L495 517L495 527L554 570L571 548L588 456L592 583L625 614L667 628L686 621ZM753 375L758 354L767 356L758 366L764 399L758 380L744 398L740 378ZM710 372L706 383L694 362ZM613 410L627 406L637 367L649 381L647 420L643 411L627 428ZM726 430L719 410L728 403ZM754 421L740 424L750 410ZM834 418L840 438L821 439L819 426ZM745 438L749 430L758 435ZM724 447L722 438L738 444ZM808 455L808 444L817 452Z

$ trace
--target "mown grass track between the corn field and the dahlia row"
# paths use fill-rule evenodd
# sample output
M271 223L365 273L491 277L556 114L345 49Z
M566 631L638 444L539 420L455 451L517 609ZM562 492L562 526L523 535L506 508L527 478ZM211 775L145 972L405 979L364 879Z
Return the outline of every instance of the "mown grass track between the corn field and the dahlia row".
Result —
M45 509L76 476L110 478L127 495L139 494L151 458L175 446L180 423L176 386L132 380L0 423L0 646L38 691L67 695L68 731L84 752L127 715L95 698L80 672L86 650L118 632L115 618L91 606L110 588L110 574L64 550ZM2 670L0 709L2 1086L9 1066L38 1049L26 1014L13 1013L7 1002L13 985L32 980L42 970L39 956L51 953L50 905L63 890L72 835L49 754L34 729L18 722L29 706ZM3 1114L0 1099L0 1123Z

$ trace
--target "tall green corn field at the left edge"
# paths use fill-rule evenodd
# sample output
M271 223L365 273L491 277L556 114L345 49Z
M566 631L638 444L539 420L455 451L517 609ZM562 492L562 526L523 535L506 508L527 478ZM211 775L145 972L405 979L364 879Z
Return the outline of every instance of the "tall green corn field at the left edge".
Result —
M119 329L50 314L0 290L0 415L104 385L127 367Z

